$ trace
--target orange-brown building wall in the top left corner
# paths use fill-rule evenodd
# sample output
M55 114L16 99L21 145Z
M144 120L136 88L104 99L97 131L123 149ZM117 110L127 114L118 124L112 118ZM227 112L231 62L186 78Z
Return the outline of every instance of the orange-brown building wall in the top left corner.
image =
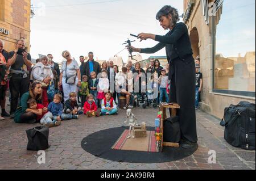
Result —
M30 52L30 0L0 0L0 28L9 30L9 35L0 33L5 49L15 49L16 40L24 37Z

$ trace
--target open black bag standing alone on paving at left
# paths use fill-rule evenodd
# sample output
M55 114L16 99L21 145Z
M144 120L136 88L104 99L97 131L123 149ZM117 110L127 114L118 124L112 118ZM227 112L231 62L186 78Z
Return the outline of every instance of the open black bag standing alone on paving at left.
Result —
M28 129L26 133L28 138L27 150L38 151L46 150L47 148L49 148L49 128L46 128L44 126L35 127L32 129Z

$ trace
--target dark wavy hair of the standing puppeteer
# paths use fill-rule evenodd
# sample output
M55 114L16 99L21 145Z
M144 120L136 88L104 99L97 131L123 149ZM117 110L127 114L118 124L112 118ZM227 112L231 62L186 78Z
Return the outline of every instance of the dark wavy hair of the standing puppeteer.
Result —
M171 23L173 27L177 22L179 22L180 18L179 18L179 11L172 6L166 5L162 7L162 9L160 9L156 14L156 19L159 20L162 16L167 17L169 14L172 16Z

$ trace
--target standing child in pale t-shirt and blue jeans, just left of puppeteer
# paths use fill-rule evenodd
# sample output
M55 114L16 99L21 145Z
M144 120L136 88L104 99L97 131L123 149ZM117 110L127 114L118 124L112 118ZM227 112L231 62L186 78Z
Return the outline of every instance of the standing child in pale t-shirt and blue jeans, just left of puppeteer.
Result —
M160 86L160 102L163 102L163 96L166 99L166 102L169 102L169 95L167 94L167 85L169 82L169 78L166 75L166 69L161 70L161 75L159 77L159 86Z

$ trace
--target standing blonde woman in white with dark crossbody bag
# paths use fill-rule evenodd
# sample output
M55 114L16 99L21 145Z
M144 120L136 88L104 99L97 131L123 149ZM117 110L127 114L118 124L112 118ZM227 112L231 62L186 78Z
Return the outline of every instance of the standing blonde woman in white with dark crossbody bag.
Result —
M63 62L59 86L62 85L64 93L64 102L69 99L70 92L76 92L77 86L81 86L81 72L77 61L71 59L71 54L64 51L62 56L67 60Z

